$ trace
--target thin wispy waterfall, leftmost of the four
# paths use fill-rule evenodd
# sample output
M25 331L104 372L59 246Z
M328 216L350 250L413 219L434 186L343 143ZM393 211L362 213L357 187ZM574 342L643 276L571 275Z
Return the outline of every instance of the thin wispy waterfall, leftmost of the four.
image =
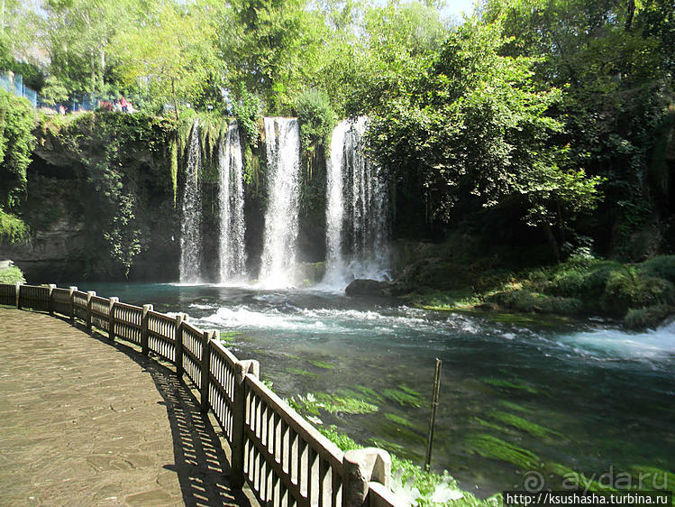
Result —
M202 153L199 146L199 120L195 120L187 152L185 189L183 190L183 221L180 226L180 282L201 281L202 259L202 199L199 191L199 171Z

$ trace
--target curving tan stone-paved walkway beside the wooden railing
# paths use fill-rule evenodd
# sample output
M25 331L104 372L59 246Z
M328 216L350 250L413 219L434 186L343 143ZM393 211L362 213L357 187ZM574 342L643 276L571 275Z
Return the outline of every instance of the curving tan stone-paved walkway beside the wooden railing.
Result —
M249 505L167 365L14 309L0 351L0 505Z

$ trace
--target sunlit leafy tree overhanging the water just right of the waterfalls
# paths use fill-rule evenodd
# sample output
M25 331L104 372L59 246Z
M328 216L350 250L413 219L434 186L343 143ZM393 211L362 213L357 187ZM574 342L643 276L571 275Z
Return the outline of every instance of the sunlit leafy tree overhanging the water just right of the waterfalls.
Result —
M502 43L495 26L454 32L424 78L381 102L370 145L412 182L428 220L521 201L521 218L543 228L558 257L552 228L594 206L598 180L555 143L562 124L548 113L560 91L537 88L533 59L501 56Z

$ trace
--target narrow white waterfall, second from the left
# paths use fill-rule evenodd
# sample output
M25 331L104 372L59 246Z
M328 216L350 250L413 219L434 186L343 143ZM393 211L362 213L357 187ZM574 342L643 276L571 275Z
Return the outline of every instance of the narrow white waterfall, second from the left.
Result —
M243 217L242 146L239 127L227 128L224 142L218 143L220 190L220 281L242 281L246 269Z

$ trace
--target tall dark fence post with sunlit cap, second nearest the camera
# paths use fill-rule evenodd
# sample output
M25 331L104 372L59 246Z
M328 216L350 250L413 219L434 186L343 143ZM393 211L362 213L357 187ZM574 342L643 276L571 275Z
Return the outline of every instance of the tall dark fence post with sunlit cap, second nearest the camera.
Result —
M243 474L244 425L246 424L246 392L244 379L246 374L260 377L260 363L255 360L237 361L234 364L234 400L232 411L232 459L230 484L241 489L246 480Z

